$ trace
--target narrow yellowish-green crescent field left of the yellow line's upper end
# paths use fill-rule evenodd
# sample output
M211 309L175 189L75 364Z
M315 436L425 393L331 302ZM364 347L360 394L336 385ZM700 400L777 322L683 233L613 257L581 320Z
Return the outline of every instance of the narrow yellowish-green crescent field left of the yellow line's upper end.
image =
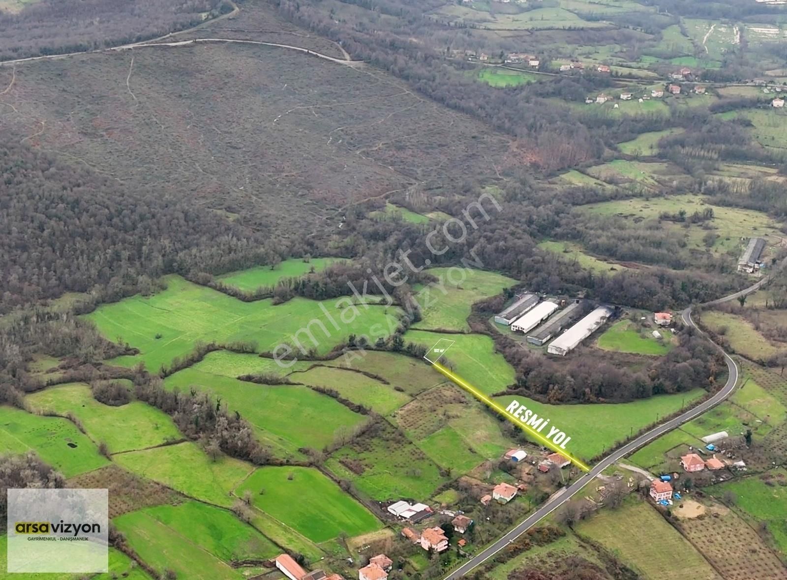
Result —
M293 373L288 378L297 383L334 389L342 397L381 415L392 413L410 400L405 393L394 391L393 385L382 384L379 380L344 369L320 366L305 373Z

